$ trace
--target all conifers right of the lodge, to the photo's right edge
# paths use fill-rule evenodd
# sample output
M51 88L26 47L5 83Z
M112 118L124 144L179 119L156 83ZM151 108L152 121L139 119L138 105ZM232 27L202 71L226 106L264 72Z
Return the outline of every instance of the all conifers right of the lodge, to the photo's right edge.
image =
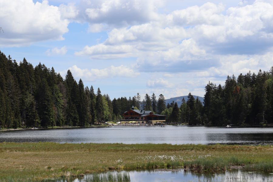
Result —
M162 112L166 121L212 126L273 123L273 66L268 72L227 76L224 86L209 82L205 91L204 106L191 93L180 107L168 104Z

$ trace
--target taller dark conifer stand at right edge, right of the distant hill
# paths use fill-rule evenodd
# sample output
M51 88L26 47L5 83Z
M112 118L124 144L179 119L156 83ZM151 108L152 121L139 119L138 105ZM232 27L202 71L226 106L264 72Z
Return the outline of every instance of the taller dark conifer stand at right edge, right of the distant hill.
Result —
M224 86L208 83L205 91L204 123L217 126L273 123L273 66L268 72L227 76Z

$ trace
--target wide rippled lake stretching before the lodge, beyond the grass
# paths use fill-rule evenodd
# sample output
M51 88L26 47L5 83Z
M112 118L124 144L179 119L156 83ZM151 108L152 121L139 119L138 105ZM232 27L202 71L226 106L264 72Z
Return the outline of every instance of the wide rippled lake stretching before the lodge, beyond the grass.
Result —
M0 132L0 142L273 144L273 128L113 126Z

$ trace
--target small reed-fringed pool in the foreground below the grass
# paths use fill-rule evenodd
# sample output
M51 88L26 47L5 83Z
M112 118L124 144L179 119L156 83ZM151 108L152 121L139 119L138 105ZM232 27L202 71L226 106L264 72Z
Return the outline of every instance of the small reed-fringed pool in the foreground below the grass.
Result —
M109 175L110 174L110 175ZM205 173L195 172L193 170L153 170L153 171L112 171L103 172L100 174L87 174L82 178L76 179L52 179L44 180L44 182L93 182L93 181L108 181L108 177L117 177L118 174L126 175L126 178L130 178L133 182L183 182L183 181L223 181L223 182L261 182L261 181L273 181L272 173L264 172L242 172L240 170L224 171L221 173ZM100 177L103 180L93 180L93 175ZM97 178L97 177L96 177ZM112 178L113 179L113 178ZM122 180L120 180L122 181ZM125 180L124 180L125 181Z

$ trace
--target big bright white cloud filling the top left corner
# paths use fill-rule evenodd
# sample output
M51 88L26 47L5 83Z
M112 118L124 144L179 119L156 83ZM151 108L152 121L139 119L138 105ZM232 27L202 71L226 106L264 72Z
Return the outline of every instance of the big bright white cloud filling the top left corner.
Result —
M0 22L5 34L0 36L2 46L30 45L44 40L63 40L69 21L62 18L57 6L48 1L0 0Z

